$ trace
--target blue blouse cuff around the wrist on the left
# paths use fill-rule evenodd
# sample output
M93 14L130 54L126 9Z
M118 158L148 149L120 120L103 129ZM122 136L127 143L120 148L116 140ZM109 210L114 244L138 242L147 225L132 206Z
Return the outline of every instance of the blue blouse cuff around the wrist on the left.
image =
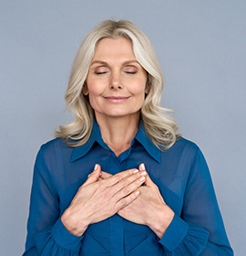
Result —
M78 250L80 248L81 240L84 236L77 237L71 234L63 225L61 219L57 219L56 224L51 230L52 236L56 243L68 250Z

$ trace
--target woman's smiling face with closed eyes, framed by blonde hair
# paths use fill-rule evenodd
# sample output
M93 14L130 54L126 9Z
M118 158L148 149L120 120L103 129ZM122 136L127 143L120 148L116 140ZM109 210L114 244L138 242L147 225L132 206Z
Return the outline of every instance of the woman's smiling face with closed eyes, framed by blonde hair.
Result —
M125 37L104 38L97 44L86 87L96 118L139 116L148 93L147 72Z

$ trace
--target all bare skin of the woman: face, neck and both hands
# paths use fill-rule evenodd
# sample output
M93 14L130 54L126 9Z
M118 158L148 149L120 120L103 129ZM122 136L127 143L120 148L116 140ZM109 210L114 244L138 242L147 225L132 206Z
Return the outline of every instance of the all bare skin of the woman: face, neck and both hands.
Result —
M117 156L128 149L138 132L140 109L149 92L146 84L147 72L135 58L130 40L99 41L83 93L88 95L104 142ZM89 224L116 213L149 226L159 238L174 216L144 164L115 176L95 165L61 220L69 232L81 236Z

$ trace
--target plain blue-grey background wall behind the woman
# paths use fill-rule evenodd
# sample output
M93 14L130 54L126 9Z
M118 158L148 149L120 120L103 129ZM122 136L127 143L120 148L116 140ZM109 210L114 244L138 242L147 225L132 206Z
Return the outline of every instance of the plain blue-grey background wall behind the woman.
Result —
M245 255L246 1L0 1L0 254L21 255L36 152L53 138L81 39L107 18L149 36L163 103L210 165L235 255Z

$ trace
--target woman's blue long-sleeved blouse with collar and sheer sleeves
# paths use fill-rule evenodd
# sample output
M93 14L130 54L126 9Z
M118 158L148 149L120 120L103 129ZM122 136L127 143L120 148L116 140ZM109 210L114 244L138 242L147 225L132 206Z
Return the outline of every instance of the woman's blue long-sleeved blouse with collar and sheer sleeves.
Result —
M89 225L81 237L69 233L61 215L95 164L115 175L144 163L165 202L175 212L159 239L148 226L118 214ZM210 171L199 147L179 140L167 151L151 143L143 125L118 157L102 140L97 123L87 144L69 147L56 138L37 156L23 255L160 256L233 255Z

